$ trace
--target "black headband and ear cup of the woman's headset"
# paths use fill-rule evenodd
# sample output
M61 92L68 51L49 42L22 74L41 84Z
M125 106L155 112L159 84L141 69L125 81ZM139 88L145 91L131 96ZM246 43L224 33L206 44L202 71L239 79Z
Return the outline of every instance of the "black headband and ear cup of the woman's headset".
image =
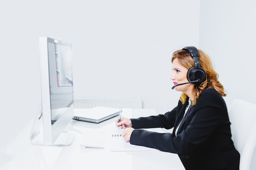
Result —
M198 49L194 46L186 46L182 50L188 51L191 55L191 57L194 60L195 66L189 68L189 71L186 75L189 82L192 82L193 84L196 84L199 86L202 82L206 80L206 73L204 69L200 66L199 62L199 53Z

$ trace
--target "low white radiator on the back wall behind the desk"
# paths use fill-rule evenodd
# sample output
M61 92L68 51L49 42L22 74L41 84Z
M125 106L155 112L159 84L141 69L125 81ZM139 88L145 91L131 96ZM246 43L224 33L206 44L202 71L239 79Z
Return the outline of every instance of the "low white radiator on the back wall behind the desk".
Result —
M96 106L111 108L142 108L142 99L136 98L92 98L74 99L74 108L93 108Z

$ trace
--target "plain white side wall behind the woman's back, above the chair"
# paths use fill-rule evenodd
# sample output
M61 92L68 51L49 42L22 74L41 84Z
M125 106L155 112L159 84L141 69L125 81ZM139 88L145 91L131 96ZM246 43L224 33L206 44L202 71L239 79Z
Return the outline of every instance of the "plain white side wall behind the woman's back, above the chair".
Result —
M201 0L200 48L213 60L230 106L235 98L256 104L256 1Z

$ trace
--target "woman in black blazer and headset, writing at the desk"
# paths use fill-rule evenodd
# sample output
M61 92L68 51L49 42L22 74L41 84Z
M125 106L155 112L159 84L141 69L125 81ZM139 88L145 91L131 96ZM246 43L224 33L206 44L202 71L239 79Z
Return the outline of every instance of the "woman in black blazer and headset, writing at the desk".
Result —
M192 56L192 57L191 57ZM186 170L238 170L239 152L231 140L226 96L209 56L195 47L175 51L171 79L180 100L164 115L128 119L117 126L130 144L177 153ZM173 128L157 133L140 128Z

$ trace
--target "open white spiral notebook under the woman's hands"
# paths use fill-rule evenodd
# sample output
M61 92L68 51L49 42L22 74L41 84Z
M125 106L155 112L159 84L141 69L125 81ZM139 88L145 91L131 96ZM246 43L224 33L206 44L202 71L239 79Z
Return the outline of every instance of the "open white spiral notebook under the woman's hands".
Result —
M164 132L162 128L150 128L146 130L160 133ZM117 128L113 130L114 133L111 135L111 151L157 151L157 149L154 148L132 145L130 142L126 142L121 135L123 131L124 129Z

